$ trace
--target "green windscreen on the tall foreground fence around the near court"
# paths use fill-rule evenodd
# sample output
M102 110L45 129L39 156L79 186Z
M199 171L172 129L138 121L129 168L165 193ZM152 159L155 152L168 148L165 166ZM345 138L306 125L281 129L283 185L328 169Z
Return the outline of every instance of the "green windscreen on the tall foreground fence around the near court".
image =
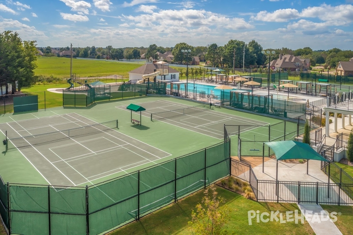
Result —
M228 140L89 187L10 184L10 233L105 233L229 175L229 148ZM5 184L0 193L5 204Z

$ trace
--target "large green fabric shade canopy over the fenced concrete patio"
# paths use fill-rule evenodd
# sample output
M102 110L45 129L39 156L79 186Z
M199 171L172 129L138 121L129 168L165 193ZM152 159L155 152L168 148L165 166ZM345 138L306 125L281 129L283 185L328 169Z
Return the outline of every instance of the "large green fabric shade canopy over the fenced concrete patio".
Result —
M309 144L293 140L265 142L265 144L274 151L277 161L287 159L307 159L329 162L329 160L313 150Z

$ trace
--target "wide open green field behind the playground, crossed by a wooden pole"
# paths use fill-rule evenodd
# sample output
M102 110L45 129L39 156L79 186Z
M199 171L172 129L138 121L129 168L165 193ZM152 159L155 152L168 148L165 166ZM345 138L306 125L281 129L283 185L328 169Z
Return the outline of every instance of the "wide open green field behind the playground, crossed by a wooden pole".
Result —
M58 78L70 78L70 58L38 57L36 75L53 75ZM108 75L128 76L130 70L143 64L124 63L109 60L72 59L72 73L79 77L100 77Z

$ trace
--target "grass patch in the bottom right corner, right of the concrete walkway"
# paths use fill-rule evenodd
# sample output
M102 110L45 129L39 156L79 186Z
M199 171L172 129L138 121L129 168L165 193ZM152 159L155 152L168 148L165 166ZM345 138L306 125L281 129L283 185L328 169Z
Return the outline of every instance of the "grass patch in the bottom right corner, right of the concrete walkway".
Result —
M324 210L327 210L329 213L335 211L341 213L337 215L337 221L335 222L337 228L341 231L342 234L353 234L353 207L352 206L336 206L336 205L321 205Z

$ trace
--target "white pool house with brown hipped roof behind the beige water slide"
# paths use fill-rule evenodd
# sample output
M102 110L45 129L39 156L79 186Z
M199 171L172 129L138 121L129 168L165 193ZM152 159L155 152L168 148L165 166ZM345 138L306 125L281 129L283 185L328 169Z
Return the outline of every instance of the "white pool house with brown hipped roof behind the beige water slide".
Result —
M151 77L150 81L158 81L158 80L171 80L174 82L179 81L180 72L178 70L170 68L168 65L162 66L161 64L151 64L151 63L146 63L143 66L140 66L137 69L134 69L128 72L129 80L131 81L131 83L136 83L138 80L142 79L142 75L154 73L157 71L157 69L168 69L168 74L158 75L156 76L156 78Z

